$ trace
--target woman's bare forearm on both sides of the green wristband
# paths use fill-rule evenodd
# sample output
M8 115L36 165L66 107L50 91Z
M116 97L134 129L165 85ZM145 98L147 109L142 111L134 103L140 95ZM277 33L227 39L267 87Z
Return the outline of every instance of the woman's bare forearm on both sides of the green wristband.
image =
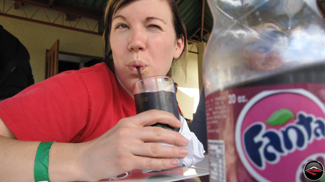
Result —
M34 181L34 162L39 141L19 141L0 136L0 181ZM81 181L77 144L54 143L49 157L51 182ZM79 172L78 172L79 171Z

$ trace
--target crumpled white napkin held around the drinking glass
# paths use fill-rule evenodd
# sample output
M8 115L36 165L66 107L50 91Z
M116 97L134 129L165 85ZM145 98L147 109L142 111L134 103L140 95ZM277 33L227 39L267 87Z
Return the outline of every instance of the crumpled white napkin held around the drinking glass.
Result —
M193 132L189 131L188 125L186 123L186 120L179 115L180 121L182 122L183 126L179 129L179 133L182 134L186 139L188 139L188 144L184 148L188 149L188 155L184 158L177 159L178 160L178 166L192 166L198 162L200 162L202 159L204 159L204 149L202 143L198 140L198 138L195 136ZM175 146L168 143L163 142L157 142L162 145L167 146ZM142 173L149 173L151 171L160 171L160 170L151 170L151 169L143 169Z

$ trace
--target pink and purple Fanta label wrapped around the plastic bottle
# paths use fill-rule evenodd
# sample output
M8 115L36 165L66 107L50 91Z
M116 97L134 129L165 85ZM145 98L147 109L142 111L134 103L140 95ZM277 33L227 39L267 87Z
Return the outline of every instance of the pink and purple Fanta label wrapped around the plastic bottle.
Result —
M324 164L324 88L269 85L208 95L210 181L306 181L308 161ZM222 147L225 162L219 167L220 160L213 161ZM220 173L225 180L214 175Z

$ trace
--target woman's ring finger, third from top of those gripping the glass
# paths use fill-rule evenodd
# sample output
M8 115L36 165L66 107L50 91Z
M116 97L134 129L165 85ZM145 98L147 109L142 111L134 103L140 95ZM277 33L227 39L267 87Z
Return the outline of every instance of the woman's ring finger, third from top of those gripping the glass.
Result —
M134 155L159 157L159 158L184 158L188 154L188 150L176 146L166 146L158 143L143 143L137 149L131 152Z

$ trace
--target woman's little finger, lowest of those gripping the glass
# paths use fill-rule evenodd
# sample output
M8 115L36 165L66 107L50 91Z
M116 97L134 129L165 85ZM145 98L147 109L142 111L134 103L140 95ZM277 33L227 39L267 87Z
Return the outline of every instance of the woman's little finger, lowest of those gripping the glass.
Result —
M136 164L135 169L153 169L153 170L162 170L162 169L171 169L177 167L178 161L175 159L158 159L144 156L134 156Z

